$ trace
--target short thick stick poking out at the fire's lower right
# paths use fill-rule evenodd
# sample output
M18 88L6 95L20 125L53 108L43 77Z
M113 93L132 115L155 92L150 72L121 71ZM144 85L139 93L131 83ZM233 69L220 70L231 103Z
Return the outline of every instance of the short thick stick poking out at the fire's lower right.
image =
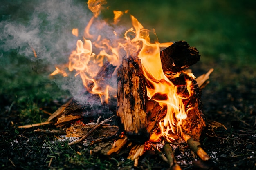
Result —
M201 148L201 144L198 141L195 141L191 135L189 135L187 132L182 131L181 135L182 139L186 141L186 143L189 145L189 147L195 152L198 157L200 157L203 161L209 160L211 157Z

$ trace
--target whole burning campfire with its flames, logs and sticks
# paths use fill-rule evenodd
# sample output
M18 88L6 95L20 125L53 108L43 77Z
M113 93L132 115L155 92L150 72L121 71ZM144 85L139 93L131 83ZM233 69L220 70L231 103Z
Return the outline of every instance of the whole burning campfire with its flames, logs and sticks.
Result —
M83 142L92 134L106 137L107 132L112 146L105 154L130 148L128 158L134 160L135 166L144 152L155 150L170 167L180 169L171 143L182 141L203 161L210 159L199 142L206 127L200 95L213 69L196 78L188 69L200 59L195 47L186 41L152 41L152 31L145 29L128 10L113 11L114 19L108 24L98 18L104 4L104 0L88 1L94 16L83 37L77 40L69 63L56 66L51 74L70 76L70 72L75 72L83 82L81 95L88 96L88 101L70 99L47 122L38 125L54 123L67 137L79 137L69 145ZM123 15L130 15L132 23L124 33L115 26ZM93 24L99 30L113 26L115 39L91 33ZM74 28L72 34L79 38L78 29ZM101 104L92 106L90 101ZM96 118L98 121L92 123ZM159 144L166 155L159 151Z

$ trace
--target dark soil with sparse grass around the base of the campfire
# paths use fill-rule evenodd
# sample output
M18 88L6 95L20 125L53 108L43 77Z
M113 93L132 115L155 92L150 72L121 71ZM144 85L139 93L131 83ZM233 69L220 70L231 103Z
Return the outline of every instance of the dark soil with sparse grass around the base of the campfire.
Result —
M198 73L200 73L199 68L200 66L197 69ZM243 73L241 70L236 70L236 72ZM202 103L207 119L222 123L227 129L221 126L215 128L214 131L206 130L205 135L202 135L202 147L211 157L211 160L207 162L200 161L186 144L173 144L177 163L183 170L256 169L256 90L254 88L256 80L245 76L244 80L239 81L240 84L229 83L227 85L225 78L225 76L213 73L211 85L203 90ZM220 82L224 84L221 88L217 86ZM20 125L19 113L15 104L9 109L10 102L8 99L6 101L1 103L0 115L0 165L2 170L35 168L37 170L165 170L169 168L168 164L153 151L147 151L139 159L138 167L133 167L133 162L126 159L127 150L112 157L106 157L96 151L101 150L99 148L108 148L111 145L109 141L114 139L70 147L65 141L52 142L56 141L58 135L34 132L37 128L16 128ZM47 117L47 115L44 116ZM53 125L40 128L58 130ZM60 144L63 146L59 146ZM74 155L76 152L78 154ZM79 156L80 154L82 156ZM88 160L88 163L79 162L84 158Z

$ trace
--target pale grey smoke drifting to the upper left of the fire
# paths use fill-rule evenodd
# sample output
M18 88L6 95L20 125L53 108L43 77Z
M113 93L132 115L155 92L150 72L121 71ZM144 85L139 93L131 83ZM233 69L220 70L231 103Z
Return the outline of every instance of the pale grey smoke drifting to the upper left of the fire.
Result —
M77 41L77 37L72 35L72 29L79 28L81 38L85 26L92 17L86 2L77 0L4 1L0 5L0 11L14 11L6 12L8 15L2 15L0 18L0 56L4 51L18 49L20 55L29 57L31 60L46 60L51 65L52 71L56 64L67 63ZM105 36L110 35L111 41L115 37L113 28L110 27L105 25L104 33L102 30L92 28L91 33L101 32ZM34 56L33 49L36 51L37 58ZM81 81L77 79L79 77L70 77L66 82L57 82L60 87L69 90L75 99L84 102L86 99L81 95L84 88Z

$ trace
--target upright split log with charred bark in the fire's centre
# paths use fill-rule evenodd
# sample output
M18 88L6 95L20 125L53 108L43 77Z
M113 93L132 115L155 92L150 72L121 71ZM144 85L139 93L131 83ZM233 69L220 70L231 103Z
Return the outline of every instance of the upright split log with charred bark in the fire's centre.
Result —
M149 139L145 100L141 61L124 58L117 69L117 116L121 118L129 141L144 143Z

